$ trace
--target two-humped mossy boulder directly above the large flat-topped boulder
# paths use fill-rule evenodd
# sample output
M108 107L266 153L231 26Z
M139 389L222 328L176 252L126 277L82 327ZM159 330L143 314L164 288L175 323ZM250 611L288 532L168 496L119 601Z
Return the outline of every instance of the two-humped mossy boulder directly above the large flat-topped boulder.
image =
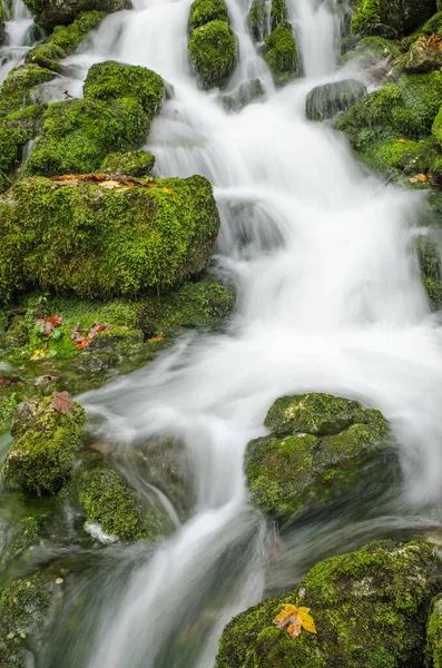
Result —
M114 61L92 66L85 99L53 104L45 114L27 174L97 171L109 153L139 149L163 95L163 79L151 70Z

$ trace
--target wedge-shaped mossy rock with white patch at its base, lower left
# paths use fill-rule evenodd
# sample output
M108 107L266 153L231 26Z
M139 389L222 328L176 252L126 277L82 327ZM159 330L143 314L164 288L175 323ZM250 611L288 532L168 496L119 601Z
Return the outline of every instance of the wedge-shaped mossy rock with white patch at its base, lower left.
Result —
M124 543L154 541L165 533L164 518L144 508L141 497L102 455L85 455L77 484L89 531L98 525L109 541L117 538Z

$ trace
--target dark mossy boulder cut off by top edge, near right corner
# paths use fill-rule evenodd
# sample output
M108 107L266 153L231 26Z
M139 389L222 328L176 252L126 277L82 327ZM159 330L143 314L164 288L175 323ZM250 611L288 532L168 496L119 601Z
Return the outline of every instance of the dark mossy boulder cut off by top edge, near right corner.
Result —
M383 37L405 36L435 11L435 0L360 0L352 20L352 31Z

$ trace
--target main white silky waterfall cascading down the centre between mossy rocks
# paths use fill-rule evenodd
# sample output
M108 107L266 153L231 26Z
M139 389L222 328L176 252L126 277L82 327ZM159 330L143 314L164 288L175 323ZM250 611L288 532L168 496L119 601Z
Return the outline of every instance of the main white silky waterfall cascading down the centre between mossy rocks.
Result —
M325 391L381 409L401 446L401 503L420 508L442 490L441 332L411 250L420 200L362 174L341 136L305 120L308 89L336 78L330 7L288 3L307 78L276 91L246 30L248 4L228 0L240 51L229 88L259 77L267 96L238 114L196 87L190 0L136 0L68 59L85 72L108 58L143 65L173 86L148 147L160 175L214 184L218 259L238 284L227 334L183 340L80 399L121 444L179 435L197 492L194 517L100 610L88 668L210 668L226 621L261 600L272 532L247 507L243 456L277 396Z

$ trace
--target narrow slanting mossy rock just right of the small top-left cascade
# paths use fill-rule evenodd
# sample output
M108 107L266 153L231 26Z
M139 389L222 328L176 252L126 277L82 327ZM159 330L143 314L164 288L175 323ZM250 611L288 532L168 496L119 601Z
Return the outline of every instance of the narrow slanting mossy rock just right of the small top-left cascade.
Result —
M75 53L85 37L98 28L105 17L102 11L82 12L69 26L56 26L43 43L26 55L26 62L61 72L59 60Z

